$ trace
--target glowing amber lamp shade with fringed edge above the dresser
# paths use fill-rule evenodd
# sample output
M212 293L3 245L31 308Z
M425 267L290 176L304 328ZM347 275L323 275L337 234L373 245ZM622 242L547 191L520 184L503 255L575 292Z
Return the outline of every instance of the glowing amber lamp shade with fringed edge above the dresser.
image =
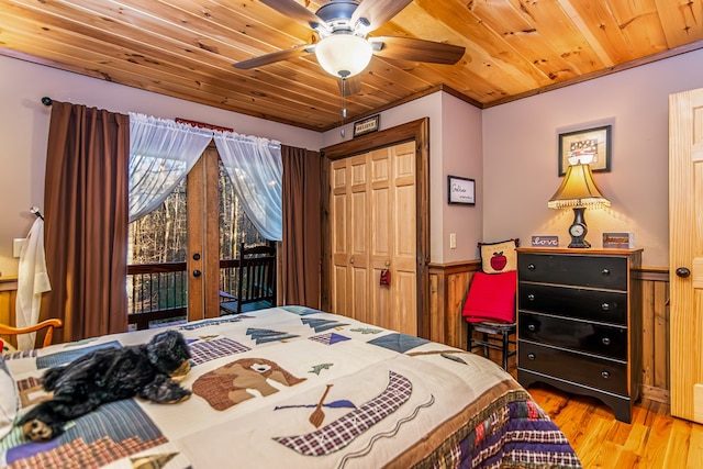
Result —
M550 209L565 209L569 206L610 206L610 200L605 199L591 172L591 166L585 164L571 165L561 181L561 186L551 196L547 206Z

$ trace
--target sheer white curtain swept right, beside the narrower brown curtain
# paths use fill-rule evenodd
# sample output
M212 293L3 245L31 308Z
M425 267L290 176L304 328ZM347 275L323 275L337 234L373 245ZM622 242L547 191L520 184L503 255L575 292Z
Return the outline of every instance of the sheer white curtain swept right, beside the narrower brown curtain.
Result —
M233 132L215 132L214 138L246 215L265 238L281 241L283 165L280 142Z

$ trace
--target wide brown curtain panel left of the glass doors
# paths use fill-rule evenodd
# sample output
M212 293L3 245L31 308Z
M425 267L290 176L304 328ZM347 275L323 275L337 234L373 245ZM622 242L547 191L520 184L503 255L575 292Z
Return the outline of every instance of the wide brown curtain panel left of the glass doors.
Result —
M44 186L55 342L125 332L130 118L54 101Z

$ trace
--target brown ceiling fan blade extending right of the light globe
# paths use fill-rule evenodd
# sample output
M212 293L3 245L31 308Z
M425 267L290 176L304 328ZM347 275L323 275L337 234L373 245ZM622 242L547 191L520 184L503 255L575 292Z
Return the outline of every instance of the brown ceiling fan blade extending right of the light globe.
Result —
M414 37L369 37L369 42L373 45L373 55L399 60L453 65L459 62L466 52L464 46ZM380 49L379 43L382 44Z

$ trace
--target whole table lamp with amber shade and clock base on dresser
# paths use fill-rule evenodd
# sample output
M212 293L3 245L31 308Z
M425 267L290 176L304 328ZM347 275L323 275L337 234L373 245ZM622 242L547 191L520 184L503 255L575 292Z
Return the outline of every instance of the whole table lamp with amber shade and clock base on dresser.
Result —
M547 202L547 206L550 209L573 208L573 223L569 226L569 235L571 235L569 247L577 248L591 247L591 244L585 241L588 233L583 217L585 208L596 209L610 205L610 200L605 199L595 186L591 165L585 163L578 163L567 168L561 186Z

